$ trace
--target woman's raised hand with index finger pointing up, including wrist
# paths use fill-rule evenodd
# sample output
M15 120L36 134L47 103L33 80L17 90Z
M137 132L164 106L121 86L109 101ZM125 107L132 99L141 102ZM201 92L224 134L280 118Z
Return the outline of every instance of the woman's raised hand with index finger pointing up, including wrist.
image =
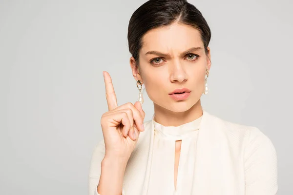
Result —
M108 103L108 112L101 118L105 140L104 158L125 159L127 162L136 146L140 132L144 131L145 112L139 101L117 106L112 79L105 71L103 75Z

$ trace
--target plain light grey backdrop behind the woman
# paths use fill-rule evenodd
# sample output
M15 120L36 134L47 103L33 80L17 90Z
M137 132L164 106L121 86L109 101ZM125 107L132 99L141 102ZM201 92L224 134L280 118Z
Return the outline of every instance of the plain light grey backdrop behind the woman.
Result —
M145 0L0 0L0 194L85 195L107 111L138 97L127 25ZM211 28L203 107L258 127L278 157L280 195L293 194L292 0L189 0ZM144 93L146 120L153 104Z

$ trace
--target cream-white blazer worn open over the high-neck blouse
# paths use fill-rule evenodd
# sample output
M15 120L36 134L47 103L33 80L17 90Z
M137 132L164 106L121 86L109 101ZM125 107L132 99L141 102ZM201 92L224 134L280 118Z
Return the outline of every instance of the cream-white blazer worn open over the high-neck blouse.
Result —
M154 137L146 121L124 175L124 195L148 195ZM192 195L276 195L277 157L271 140L258 128L225 121L203 110L196 145ZM95 148L89 170L89 195L98 195L104 139Z

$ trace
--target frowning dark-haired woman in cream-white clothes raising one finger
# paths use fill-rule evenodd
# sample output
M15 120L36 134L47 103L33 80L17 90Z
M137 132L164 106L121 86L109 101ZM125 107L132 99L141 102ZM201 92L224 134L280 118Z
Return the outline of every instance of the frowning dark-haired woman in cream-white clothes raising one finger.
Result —
M209 92L211 34L186 0L149 0L128 26L139 101L118 106L103 72L109 111L90 167L89 195L275 195L277 161L256 127L215 117ZM142 84L154 102L144 122Z

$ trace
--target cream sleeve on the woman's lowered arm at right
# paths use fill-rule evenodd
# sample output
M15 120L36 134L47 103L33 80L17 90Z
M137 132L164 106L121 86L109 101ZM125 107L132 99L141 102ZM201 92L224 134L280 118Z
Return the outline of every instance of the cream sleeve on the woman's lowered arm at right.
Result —
M250 131L245 149L245 195L277 195L277 156L269 137Z

